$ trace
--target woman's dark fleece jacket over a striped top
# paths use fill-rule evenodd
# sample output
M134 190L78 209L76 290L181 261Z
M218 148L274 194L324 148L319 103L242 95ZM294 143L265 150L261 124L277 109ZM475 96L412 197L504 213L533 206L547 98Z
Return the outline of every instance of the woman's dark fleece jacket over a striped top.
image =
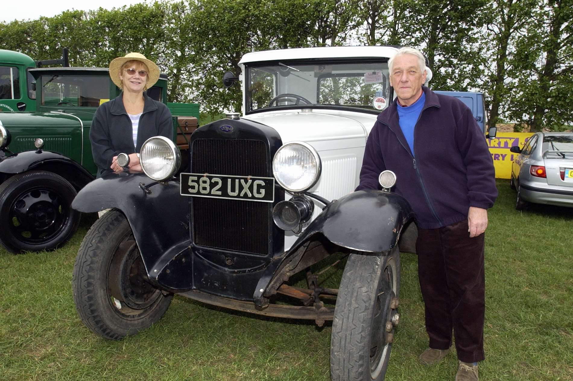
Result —
M143 114L139 118L137 146L134 145L131 119L123 105L123 93L96 110L92 126L89 129L89 140L92 142L93 161L97 165L97 177L107 171L113 156L123 153L136 153L143 143L152 136L164 136L173 140L173 120L171 112L161 102L152 100L143 93Z

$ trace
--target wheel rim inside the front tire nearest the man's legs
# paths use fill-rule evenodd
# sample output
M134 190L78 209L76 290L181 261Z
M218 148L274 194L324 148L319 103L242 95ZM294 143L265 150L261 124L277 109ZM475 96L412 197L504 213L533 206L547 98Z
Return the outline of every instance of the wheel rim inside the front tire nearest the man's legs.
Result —
M391 301L396 294L395 262L388 259L386 267L382 273L382 279L378 287L376 304L374 306L374 319L372 319L372 331L370 337L370 376L376 379L388 362L391 350L391 340L388 342L388 335L394 335L394 327L387 331L386 324L391 323L394 309L391 308Z

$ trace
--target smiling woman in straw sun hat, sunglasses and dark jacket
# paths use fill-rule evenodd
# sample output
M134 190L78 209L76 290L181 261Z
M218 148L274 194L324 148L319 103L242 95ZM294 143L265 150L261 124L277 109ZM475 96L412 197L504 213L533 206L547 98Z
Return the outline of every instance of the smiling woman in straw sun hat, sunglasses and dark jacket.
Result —
M139 150L152 136L173 139L171 112L146 90L159 80L159 68L140 53L129 53L109 63L109 76L122 92L105 102L93 116L89 130L97 177L121 172L117 155L129 154L129 169L141 170Z

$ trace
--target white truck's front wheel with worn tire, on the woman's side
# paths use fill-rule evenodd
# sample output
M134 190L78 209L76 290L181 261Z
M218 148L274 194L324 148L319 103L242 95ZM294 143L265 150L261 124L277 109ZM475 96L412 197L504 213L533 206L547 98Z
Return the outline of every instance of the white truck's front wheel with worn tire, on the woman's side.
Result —
M111 340L158 322L173 297L148 283L131 227L116 210L105 213L85 235L74 264L72 290L82 322Z

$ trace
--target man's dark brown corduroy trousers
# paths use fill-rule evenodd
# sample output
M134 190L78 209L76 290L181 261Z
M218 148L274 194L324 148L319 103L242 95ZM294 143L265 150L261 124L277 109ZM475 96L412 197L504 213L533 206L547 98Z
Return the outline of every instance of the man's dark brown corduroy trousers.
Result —
M484 355L484 234L470 238L468 221L418 229L418 277L426 308L430 348L452 346L458 359L473 363Z

